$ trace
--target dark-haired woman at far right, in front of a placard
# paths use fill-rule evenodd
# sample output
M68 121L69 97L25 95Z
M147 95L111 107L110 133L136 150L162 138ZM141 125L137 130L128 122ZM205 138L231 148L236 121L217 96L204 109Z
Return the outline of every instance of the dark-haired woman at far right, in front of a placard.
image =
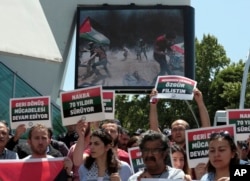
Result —
M202 181L227 181L230 180L230 166L240 163L237 146L227 131L213 133L209 139L209 161L207 174Z

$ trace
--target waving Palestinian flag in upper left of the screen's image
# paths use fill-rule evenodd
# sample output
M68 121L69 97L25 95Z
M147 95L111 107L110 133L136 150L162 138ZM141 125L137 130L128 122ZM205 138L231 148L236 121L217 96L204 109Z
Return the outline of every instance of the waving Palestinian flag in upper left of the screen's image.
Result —
M92 25L90 18L86 18L80 26L80 37L85 38L89 41L93 41L99 44L109 45L110 40L102 33L95 30Z

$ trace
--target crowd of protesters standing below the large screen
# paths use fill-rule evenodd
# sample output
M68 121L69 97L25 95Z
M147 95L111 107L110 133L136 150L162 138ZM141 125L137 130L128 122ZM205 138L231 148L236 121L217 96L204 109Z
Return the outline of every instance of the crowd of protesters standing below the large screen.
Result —
M152 90L150 96L157 94ZM210 127L202 93L194 90L201 127ZM214 133L208 142L208 163L189 168L185 131L187 121L178 119L170 129L160 130L157 100L150 103L148 130L138 128L130 133L119 120L86 122L68 126L68 133L53 139L51 129L37 124L29 129L27 142L21 136L27 131L19 125L15 134L0 121L0 159L65 157L64 168L56 180L74 181L140 181L142 178L183 179L186 181L230 180L230 166L249 164L250 140L235 144L228 132ZM139 147L144 168L133 173L128 149Z

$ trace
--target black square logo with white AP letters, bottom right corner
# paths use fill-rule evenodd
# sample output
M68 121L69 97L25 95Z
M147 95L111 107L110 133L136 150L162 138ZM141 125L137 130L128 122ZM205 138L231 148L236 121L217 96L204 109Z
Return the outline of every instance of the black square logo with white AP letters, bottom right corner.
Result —
M250 165L233 165L230 167L230 181L250 180Z

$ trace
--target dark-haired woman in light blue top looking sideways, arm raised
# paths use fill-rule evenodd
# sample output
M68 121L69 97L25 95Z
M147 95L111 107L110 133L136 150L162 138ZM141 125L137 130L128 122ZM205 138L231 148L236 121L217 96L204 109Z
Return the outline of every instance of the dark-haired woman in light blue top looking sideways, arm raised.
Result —
M79 121L76 130L79 135L73 153L73 161L79 168L80 181L127 181L132 174L130 166L118 160L112 151L113 139L103 130L95 130L90 136L90 155L83 156L83 144L86 122Z

